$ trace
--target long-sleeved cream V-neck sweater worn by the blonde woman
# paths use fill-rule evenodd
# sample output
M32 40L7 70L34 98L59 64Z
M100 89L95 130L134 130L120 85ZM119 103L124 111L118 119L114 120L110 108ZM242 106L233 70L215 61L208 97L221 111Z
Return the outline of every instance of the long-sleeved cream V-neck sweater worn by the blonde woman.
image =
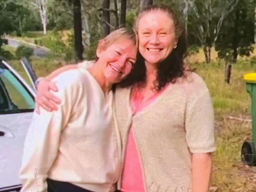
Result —
M58 111L34 113L24 146L22 192L46 191L45 179L109 192L121 172L119 131L113 119L113 92L105 96L85 69L56 79Z

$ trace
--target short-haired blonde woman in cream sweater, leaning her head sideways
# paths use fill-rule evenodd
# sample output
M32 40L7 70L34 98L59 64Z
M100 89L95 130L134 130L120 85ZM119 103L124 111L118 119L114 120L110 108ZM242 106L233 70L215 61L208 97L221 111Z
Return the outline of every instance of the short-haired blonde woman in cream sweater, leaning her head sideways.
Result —
M22 192L115 190L121 143L111 87L130 73L135 45L134 34L113 31L99 42L95 62L84 62L54 79L61 104L56 111L34 113L20 170Z

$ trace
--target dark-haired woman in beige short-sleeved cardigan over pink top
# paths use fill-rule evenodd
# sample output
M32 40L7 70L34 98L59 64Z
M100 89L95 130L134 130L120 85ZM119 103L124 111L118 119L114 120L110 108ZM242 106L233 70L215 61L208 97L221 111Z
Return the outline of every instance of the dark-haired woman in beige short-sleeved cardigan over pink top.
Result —
M115 91L124 160L118 188L208 192L215 150L213 109L204 81L184 68L186 43L178 19L166 7L147 7L135 32L137 62ZM46 89L39 92L40 97L48 94Z

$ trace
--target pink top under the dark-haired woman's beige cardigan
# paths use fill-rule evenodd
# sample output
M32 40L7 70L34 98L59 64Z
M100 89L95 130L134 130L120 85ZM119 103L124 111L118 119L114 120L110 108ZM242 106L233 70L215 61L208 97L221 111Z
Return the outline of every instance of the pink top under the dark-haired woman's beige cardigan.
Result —
M169 83L168 83L169 85ZM148 99L144 102L141 102L143 98L147 95L143 95L139 92L137 88L133 88L131 92L130 105L132 107L133 116L145 109L150 103L153 103L156 98L163 92L163 90L168 87L166 85L160 92L151 92L151 95L148 95ZM137 150L137 146L134 141L132 126L130 127L125 160L124 160L124 168L122 172L122 183L121 183L121 191L122 192L145 192L144 188L144 179L143 172L141 168L141 162L139 159L139 153Z

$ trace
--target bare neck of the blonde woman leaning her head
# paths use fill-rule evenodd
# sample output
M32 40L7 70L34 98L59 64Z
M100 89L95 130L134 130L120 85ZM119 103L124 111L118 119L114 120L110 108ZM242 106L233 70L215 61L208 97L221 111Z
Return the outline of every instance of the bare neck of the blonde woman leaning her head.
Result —
M98 65L98 63L94 63L93 66L91 66L88 71L90 72L90 74L95 78L95 80L98 82L98 84L100 85L102 91L104 93L108 92L111 87L112 87L112 83L109 83L102 70L100 69L100 65Z

